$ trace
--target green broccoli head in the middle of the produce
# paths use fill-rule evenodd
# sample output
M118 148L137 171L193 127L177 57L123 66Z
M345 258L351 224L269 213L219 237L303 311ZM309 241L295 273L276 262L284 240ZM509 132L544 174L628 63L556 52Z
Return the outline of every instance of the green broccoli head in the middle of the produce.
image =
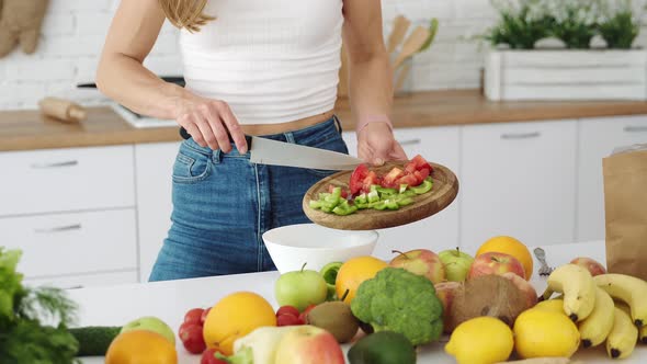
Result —
M364 281L351 310L375 332L400 332L413 345L435 341L443 331L443 306L433 283L400 268L385 268Z

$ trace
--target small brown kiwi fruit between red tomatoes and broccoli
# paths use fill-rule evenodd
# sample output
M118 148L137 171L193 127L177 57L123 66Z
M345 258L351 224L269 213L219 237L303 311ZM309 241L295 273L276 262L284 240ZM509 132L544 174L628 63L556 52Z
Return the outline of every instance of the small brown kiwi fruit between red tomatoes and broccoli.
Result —
M317 305L308 312L306 321L332 333L339 343L351 341L360 328L351 307L341 300Z

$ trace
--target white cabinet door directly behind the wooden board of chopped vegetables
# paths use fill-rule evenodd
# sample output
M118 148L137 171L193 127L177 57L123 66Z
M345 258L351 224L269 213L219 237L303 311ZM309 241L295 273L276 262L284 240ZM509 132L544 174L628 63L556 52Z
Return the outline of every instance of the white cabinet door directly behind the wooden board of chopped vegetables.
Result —
M394 130L407 157L421 155L429 161L450 168L459 177L459 128L424 127L397 128ZM356 139L352 132L344 134L349 152L356 155ZM374 254L391 259L391 250L407 251L425 248L439 252L458 244L458 205L456 200L444 211L419 221L389 229L381 229Z

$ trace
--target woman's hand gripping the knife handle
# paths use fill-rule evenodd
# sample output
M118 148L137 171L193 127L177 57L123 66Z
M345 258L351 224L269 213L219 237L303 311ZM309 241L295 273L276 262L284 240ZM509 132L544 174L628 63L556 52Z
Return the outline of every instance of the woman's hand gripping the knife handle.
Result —
M238 120L229 105L220 100L211 100L193 95L183 99L175 117L201 147L208 146L213 150L231 151L231 141L240 153L247 152L247 141Z

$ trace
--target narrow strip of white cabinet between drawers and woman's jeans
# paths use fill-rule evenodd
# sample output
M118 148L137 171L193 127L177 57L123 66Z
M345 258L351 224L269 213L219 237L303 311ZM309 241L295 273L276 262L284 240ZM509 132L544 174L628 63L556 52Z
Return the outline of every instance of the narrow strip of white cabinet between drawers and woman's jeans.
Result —
M135 146L141 282L148 281L152 264L171 227L172 171L179 148L180 143Z

